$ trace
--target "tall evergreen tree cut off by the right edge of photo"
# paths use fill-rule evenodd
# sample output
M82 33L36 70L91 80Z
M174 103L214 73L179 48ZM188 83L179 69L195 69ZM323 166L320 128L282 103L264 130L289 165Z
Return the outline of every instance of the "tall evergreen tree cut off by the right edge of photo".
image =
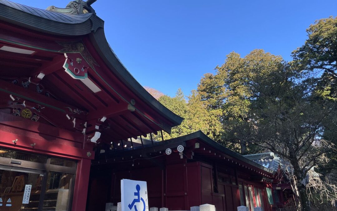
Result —
M315 24L307 29L307 34L308 38L304 45L293 51L294 60L291 64L300 70L320 75L315 87L317 100L337 102L337 18L315 21ZM324 131L323 138L336 145L337 116L325 121L328 129ZM326 156L329 162L326 165L319 165L319 172L322 175L331 175L337 170L337 153L328 151ZM335 178L333 180L337 183Z

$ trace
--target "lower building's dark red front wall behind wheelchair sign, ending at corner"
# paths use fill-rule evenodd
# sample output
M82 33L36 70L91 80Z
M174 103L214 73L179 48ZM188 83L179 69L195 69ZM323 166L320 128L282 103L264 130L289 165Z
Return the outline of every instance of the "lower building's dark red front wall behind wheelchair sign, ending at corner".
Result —
M90 175L87 210L104 210L106 202L121 201L121 179L146 181L149 207L189 210L201 204L201 168L199 162L163 167L92 172ZM116 171L116 172L115 172ZM187 179L188 178L188 179ZM110 184L109 184L110 181Z

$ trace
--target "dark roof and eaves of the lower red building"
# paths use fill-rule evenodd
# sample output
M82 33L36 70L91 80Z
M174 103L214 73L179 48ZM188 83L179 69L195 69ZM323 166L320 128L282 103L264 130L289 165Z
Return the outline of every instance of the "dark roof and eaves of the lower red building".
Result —
M220 146L218 149L210 144L218 144L215 141L208 138L201 131L191 133L178 138L173 138L169 140L159 141L144 144L136 144L133 141L133 147L131 147L131 141L124 142L125 147L115 146L115 149L101 148L104 153L96 153L96 159L93 161L93 165L113 165L115 162L120 161L132 161L135 158L147 158L161 156L165 154L165 150L170 148L173 153L172 155L165 156L181 156L181 158L187 159L188 162L205 162L210 165L217 164L225 168L236 169L241 172L240 177L254 176L254 180L264 181L267 183L271 182L271 178L274 177L275 172L259 165L245 157L234 153L233 151ZM199 148L195 148L195 143L198 143ZM183 153L177 152L177 147L181 145L184 146ZM219 144L220 145L220 144ZM221 150L227 149L226 151ZM102 151L101 151L102 152ZM235 155L237 154L237 155ZM263 179L265 178L265 179Z

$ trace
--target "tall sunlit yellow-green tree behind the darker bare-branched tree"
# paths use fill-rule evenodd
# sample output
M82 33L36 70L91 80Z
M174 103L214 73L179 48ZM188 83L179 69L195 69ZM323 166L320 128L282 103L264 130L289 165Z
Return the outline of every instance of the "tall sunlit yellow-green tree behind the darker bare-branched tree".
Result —
M226 141L222 142L227 147L241 154L256 150L245 139L238 139L234 129L250 130L247 121L251 101L257 98L257 89L273 80L269 73L282 66L282 62L281 57L263 50L254 50L245 58L232 52L221 67L216 67L215 75L205 74L198 84L198 92L207 102L208 110L217 113L223 125L221 139Z

